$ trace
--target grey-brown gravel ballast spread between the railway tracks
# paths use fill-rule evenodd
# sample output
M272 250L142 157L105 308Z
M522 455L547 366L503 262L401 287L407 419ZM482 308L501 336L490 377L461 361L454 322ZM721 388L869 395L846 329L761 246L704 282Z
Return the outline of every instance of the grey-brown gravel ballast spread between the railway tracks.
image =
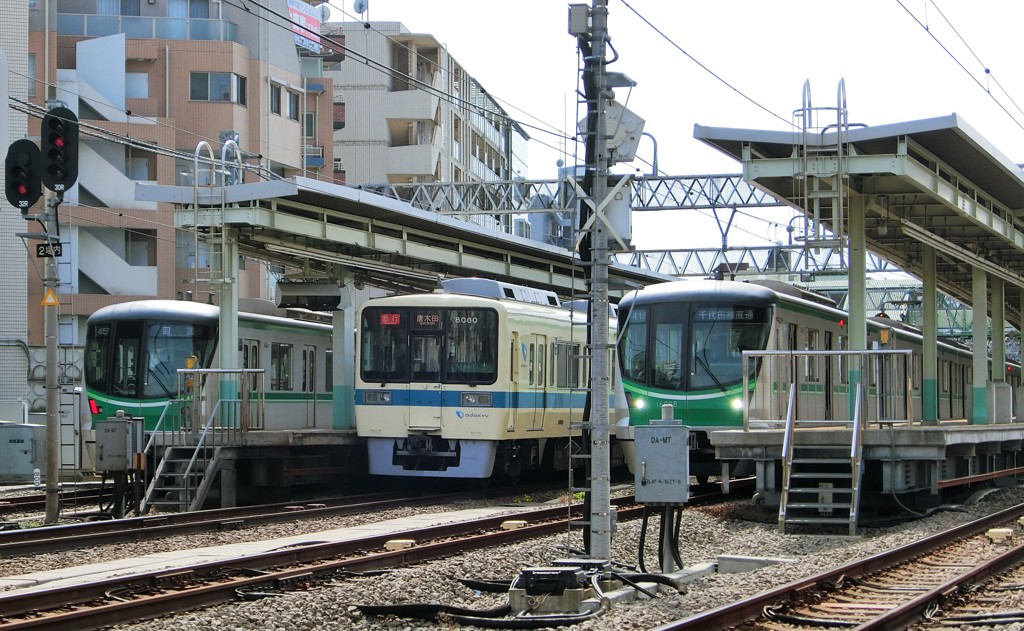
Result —
M982 494L976 501L966 505L946 507L926 518L884 529L862 529L861 536L854 538L838 535L780 535L772 514L758 509L749 500L714 507L687 508L683 512L680 542L680 552L687 565L712 562L720 555L781 557L792 560L740 574L710 574L695 579L682 593L663 590L654 600L616 603L602 617L563 628L650 629L919 540L1022 502L1024 489L1001 489ZM372 516L317 519L309 522L296 520L232 533L190 535L157 542L104 546L98 553L104 558L126 558L166 549L292 536L300 532L297 530L299 528L302 532L316 532L355 525L367 520L380 521L414 513L460 510L481 505L493 506L494 502L461 502L443 508L411 508ZM648 528L645 559L647 569L655 571L657 519L652 519ZM637 563L640 530L640 520L618 524L612 540L613 561L630 565ZM337 579L309 591L286 592L258 600L112 628L119 631L180 631L198 628L230 631L451 629L457 625L406 618L368 617L355 605L422 602L488 609L506 603L507 594L474 592L459 583L459 578L511 580L523 567L550 565L552 560L570 555L567 547L581 546L582 539L577 532L523 544L467 552L438 561L401 567L383 576ZM93 549L3 559L0 562L0 574L12 576L93 562L96 556L97 550Z

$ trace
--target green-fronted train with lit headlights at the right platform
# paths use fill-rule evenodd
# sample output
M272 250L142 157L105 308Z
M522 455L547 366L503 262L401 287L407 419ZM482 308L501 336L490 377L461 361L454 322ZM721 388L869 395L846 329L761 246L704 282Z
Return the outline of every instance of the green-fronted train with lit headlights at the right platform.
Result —
M748 380L751 392L744 392L743 350L849 348L845 311L824 296L777 282L651 285L628 294L618 304L618 318L617 355L629 418L621 421L616 434L627 464L633 468L630 427L659 419L662 406L671 404L674 417L690 428L690 472L698 479L721 472L709 432L742 427L743 402L752 392L784 394L788 385L768 383L767 371L755 363ZM894 336L889 347L912 351L908 403L911 418L920 420L922 335L899 321L869 318L869 347L885 336ZM965 419L971 413L972 352L940 341L937 354L938 418ZM850 406L849 383L841 370L821 366L817 374L803 366L794 370L798 405L809 418L839 418ZM1007 371L1007 381L1016 389L1020 366L1008 363Z

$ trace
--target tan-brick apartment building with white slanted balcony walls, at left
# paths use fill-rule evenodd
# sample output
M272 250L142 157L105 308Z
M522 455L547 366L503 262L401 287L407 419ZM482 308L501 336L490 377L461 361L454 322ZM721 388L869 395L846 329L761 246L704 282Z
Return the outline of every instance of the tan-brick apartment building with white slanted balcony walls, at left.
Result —
M333 91L315 35L294 32L300 14L317 23L322 13L302 0L29 1L29 80L12 94L37 114L63 104L81 121L78 183L58 212L62 380L81 376L75 353L97 308L156 297L217 302L216 286L203 282L205 245L175 228L169 205L135 201L137 182L209 183L217 174L197 164L197 152L241 159L245 168L228 172L234 181L332 178ZM5 24L4 33L18 32ZM30 116L29 137L38 125ZM25 305L18 339L39 348L42 263L26 266L19 254L27 290L15 296L12 283L9 295ZM267 264L243 267L240 296L271 297ZM42 409L44 373L28 374L30 404Z

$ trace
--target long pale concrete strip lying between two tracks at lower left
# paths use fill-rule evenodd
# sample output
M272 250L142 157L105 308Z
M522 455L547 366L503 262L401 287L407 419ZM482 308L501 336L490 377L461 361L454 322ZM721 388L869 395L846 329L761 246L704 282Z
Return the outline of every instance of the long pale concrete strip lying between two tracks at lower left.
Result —
M522 507L499 506L494 508L429 513L365 523L352 528L322 531L263 541L155 552L139 557L127 557L86 565L61 567L59 570L0 577L0 590L18 590L28 593L56 587L79 585L114 577L174 571L187 565L194 565L197 562L216 562L244 558L285 547L337 543L367 537L388 536L410 530L458 523L502 514L508 514L511 517L536 508L536 506L530 505L523 505Z

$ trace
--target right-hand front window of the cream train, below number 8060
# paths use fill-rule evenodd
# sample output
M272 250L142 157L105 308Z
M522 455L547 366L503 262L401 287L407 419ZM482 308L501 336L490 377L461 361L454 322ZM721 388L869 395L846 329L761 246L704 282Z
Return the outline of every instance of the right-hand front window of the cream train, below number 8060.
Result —
M494 383L498 379L498 313L449 309L444 383Z

